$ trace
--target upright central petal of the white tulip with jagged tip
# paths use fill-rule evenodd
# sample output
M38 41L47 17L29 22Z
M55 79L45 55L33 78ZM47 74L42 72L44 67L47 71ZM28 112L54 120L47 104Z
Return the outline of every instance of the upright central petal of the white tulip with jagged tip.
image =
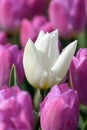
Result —
M42 40L36 45L39 55L47 71L54 65L59 56L58 50L58 30L46 33Z

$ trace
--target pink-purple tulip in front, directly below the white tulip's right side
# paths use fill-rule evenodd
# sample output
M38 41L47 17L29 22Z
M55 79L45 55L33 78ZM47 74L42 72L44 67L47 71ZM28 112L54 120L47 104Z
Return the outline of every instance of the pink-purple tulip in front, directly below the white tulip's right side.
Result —
M55 85L40 104L42 130L77 130L78 94L67 84Z

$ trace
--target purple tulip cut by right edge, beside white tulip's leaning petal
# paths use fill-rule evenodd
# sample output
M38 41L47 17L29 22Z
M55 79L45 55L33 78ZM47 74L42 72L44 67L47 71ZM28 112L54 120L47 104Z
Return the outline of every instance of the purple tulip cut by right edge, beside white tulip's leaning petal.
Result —
M87 105L87 49L80 49L70 65L70 80L80 102Z

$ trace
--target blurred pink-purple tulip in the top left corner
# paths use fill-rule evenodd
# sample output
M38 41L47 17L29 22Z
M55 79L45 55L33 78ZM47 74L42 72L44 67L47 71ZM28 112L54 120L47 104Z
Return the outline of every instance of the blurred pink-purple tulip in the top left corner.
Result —
M21 20L21 9L23 0L1 0L0 1L0 26L5 30L18 28Z

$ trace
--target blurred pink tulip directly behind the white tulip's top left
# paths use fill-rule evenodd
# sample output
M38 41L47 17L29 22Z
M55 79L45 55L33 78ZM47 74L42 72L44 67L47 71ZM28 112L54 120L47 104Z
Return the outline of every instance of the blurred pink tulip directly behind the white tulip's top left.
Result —
M35 41L40 30L43 30L44 32L53 31L51 23L47 21L44 16L36 16L32 21L24 19L21 22L20 27L20 41L22 47L25 47L26 42L29 38Z

